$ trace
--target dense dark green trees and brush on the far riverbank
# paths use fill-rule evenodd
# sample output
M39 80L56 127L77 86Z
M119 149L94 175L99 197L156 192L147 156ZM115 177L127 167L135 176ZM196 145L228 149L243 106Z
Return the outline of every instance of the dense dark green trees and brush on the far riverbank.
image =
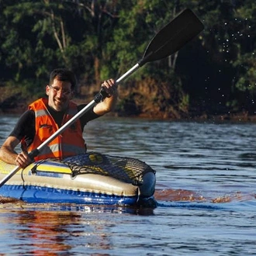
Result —
M78 98L118 78L155 33L190 8L205 25L178 53L120 86L117 110L181 118L254 114L256 3L252 0L0 0L0 107L43 95L55 67L78 77Z

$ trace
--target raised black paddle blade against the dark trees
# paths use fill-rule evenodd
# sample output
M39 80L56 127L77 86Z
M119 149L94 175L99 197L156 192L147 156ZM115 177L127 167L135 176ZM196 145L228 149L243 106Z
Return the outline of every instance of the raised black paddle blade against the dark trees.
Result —
M204 28L202 22L190 9L185 9L168 25L164 26L150 41L140 67L147 62L161 60L180 50Z

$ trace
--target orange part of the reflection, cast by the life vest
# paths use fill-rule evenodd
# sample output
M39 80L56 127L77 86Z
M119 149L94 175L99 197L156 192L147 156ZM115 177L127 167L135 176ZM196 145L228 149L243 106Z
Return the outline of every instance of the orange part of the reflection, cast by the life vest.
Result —
M78 216L74 213L46 213L37 211L17 211L13 220L17 227L16 239L26 240L19 247L24 254L40 255L49 252L57 255L60 251L68 251L71 245L66 244L70 235L67 227L75 222ZM28 239L29 237L29 239Z

